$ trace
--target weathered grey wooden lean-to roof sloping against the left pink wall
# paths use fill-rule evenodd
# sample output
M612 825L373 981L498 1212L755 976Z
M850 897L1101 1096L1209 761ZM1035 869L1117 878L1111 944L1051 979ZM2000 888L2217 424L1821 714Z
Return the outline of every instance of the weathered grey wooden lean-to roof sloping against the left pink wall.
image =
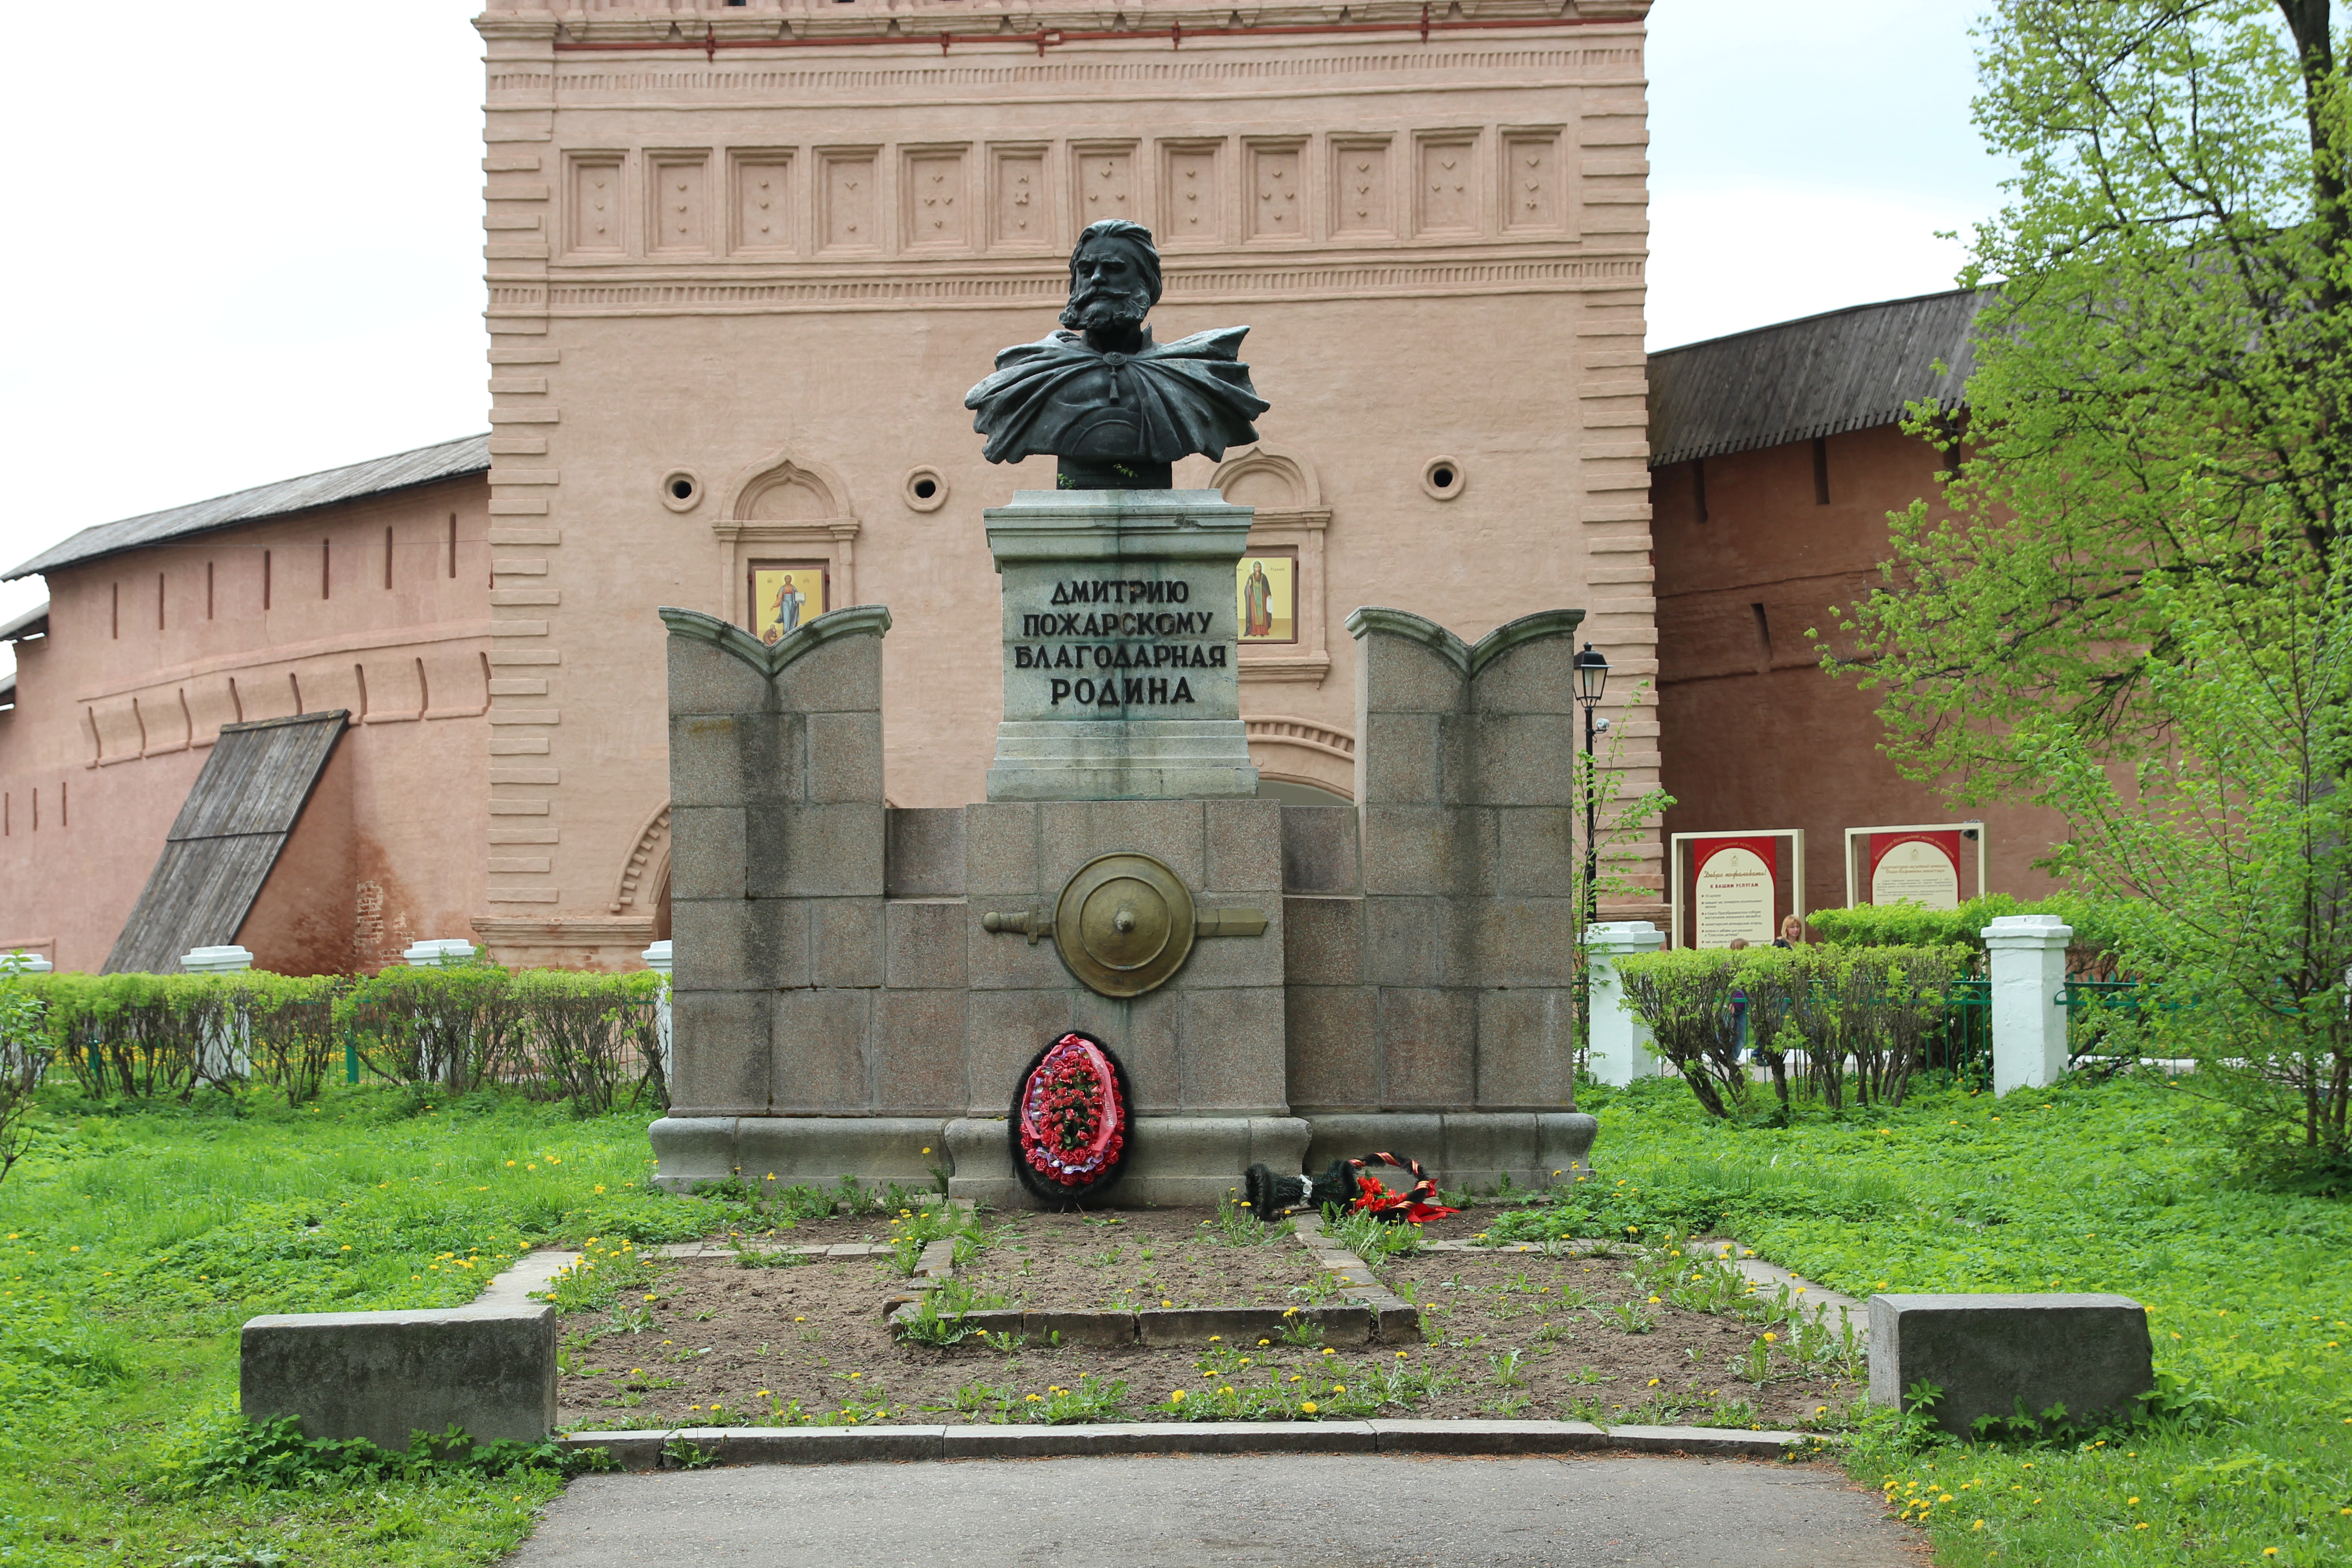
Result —
M221 726L103 973L169 976L191 947L238 940L348 717L336 708Z

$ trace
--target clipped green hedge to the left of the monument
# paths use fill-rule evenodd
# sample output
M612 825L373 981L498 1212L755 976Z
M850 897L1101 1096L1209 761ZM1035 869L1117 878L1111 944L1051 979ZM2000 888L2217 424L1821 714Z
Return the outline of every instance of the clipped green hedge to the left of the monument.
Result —
M593 1117L668 1105L652 971L597 976L496 964L376 976L16 976L31 1001L12 1048L49 1058L92 1098L188 1100L254 1084L315 1100L329 1072L562 1100Z

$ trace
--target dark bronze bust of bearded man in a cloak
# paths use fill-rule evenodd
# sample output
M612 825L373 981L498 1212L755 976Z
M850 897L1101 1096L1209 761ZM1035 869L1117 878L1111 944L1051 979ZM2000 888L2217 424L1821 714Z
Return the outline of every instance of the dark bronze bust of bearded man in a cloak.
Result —
M1169 489L1169 465L1195 451L1258 440L1268 409L1240 350L1249 327L1152 343L1143 315L1160 303L1152 230L1127 219L1089 223L1070 252L1065 331L1016 343L997 374L964 393L981 456L1018 463L1049 451L1056 489Z

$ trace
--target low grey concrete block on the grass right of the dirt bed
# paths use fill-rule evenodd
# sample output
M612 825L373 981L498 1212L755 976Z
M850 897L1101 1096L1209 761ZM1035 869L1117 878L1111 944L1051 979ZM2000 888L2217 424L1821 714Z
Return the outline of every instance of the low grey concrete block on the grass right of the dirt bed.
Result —
M1872 1295L1870 1403L1903 1408L1926 1380L1933 1420L1969 1436L1978 1415L2129 1418L2157 1387L2147 1309L2129 1295Z

